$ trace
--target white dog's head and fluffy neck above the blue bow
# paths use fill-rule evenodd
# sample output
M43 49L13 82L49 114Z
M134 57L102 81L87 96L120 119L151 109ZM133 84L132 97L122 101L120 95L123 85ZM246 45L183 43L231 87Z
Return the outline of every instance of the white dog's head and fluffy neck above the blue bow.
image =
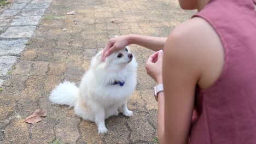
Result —
M104 62L101 61L103 51L92 58L90 69L95 81L109 85L115 81L126 81L127 77L136 75L137 62L128 47L113 52Z

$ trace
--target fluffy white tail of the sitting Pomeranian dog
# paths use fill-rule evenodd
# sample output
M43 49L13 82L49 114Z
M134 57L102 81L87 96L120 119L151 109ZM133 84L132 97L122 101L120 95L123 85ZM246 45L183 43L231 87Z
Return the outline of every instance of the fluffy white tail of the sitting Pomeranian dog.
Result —
M74 106L78 99L79 88L74 82L60 83L50 94L50 101L59 105Z

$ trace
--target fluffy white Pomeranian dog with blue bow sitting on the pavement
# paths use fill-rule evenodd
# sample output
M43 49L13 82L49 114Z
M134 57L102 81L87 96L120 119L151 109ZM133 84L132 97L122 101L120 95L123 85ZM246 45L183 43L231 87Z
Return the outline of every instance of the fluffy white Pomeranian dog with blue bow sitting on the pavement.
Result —
M60 83L50 94L55 104L74 106L74 112L83 119L95 122L98 134L107 132L105 119L118 116L119 111L130 117L127 100L136 88L137 62L128 47L112 53L101 61L102 51L91 59L79 88L75 83Z

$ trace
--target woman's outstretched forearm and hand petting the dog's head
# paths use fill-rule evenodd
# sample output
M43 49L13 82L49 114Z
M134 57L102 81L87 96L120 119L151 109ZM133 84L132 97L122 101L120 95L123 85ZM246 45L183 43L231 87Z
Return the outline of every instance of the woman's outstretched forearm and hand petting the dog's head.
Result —
M143 35L129 34L111 38L104 48L102 61L114 51L124 49L125 46L136 44L150 50L159 51L163 49L167 38L148 37Z

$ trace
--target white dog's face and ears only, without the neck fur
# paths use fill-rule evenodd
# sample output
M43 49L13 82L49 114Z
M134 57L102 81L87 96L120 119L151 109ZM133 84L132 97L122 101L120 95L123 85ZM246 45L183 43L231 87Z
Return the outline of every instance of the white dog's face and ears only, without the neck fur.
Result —
M102 52L97 53L96 55L96 63L94 66L103 67L104 69L115 70L120 68L125 68L127 64L132 62L133 55L129 51L129 47L125 47L122 50L115 51L111 55L109 55L104 62L101 62Z

